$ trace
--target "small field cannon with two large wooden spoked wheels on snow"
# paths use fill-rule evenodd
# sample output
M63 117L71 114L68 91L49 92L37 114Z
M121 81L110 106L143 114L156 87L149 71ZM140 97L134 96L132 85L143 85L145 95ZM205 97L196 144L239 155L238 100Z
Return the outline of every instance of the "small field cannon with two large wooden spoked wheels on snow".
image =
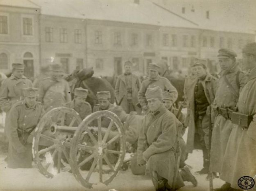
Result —
M108 127L102 127L103 118L109 120ZM45 177L52 178L66 167L87 188L100 182L108 185L115 178L125 149L125 131L114 113L98 111L82 120L66 107L54 108L42 117L32 146L34 162Z

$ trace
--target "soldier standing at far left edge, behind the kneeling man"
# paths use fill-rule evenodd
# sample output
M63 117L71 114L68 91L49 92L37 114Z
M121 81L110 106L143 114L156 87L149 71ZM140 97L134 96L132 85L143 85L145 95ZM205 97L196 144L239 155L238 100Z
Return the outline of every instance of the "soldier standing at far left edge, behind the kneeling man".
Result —
M23 75L23 63L13 63L12 68L11 77L2 82L0 90L0 106L1 110L6 112L6 119L12 105L22 100L22 89L32 87L32 82ZM5 124L5 131L6 128Z

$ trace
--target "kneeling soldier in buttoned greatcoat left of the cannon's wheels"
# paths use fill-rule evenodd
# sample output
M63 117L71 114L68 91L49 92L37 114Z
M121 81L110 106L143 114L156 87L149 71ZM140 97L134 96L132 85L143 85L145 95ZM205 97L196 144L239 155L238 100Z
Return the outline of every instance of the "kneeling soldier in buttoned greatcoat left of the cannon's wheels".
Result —
M37 102L37 88L24 88L24 101L14 104L6 120L9 139L9 168L31 168L32 135L44 114L43 106Z

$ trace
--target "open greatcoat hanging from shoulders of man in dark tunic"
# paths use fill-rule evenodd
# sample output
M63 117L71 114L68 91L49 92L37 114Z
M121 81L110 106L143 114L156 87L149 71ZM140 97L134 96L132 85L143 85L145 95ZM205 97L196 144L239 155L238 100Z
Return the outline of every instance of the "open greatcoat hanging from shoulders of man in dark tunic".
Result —
M209 104L212 104L215 98L216 88L217 88L217 78L213 77L211 74L207 74L205 79L201 81L205 97ZM191 89L195 92L195 87L197 80L194 80L194 83L191 85ZM187 146L186 151L192 153L194 148L194 137L195 137L195 95L194 93L190 94L188 98L188 135L187 135Z

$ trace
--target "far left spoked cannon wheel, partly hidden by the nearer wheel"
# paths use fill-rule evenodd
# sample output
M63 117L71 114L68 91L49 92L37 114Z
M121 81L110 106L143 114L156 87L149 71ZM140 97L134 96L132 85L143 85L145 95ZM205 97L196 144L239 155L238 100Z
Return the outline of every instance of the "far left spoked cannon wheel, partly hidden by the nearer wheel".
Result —
M38 123L32 153L36 166L47 178L52 178L61 170L71 170L71 139L81 121L73 109L57 107L47 112Z

